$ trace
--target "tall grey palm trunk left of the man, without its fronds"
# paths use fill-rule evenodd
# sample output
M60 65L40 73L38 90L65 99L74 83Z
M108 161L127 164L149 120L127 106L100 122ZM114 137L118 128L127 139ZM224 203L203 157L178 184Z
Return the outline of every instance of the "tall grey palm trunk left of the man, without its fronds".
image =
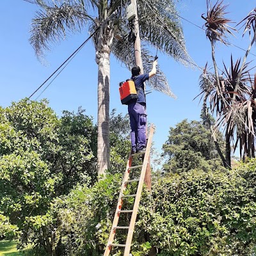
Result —
M109 169L109 52L97 51L96 61L98 64L97 164L98 175L104 175Z

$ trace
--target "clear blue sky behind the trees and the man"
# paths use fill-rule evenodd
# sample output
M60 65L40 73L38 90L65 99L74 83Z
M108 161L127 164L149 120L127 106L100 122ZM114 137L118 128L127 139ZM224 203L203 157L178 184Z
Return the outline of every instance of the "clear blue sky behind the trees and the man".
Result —
M180 2L178 6L180 16L202 28L204 20L201 15L207 12L206 0ZM227 17L234 22L241 21L256 6L255 1L252 0L225 0L224 3L229 4ZM36 59L33 47L29 44L29 29L36 6L22 0L2 0L0 10L0 105L6 107L13 101L29 97L89 35L84 30L81 34L67 36L60 44L52 45L51 52L46 52L45 65L42 65ZM204 67L207 61L212 67L211 45L205 32L184 19L181 19L181 22L189 55L198 67ZM236 38L229 38L229 41L247 49L248 34L242 38L242 31L239 31L236 33ZM244 56L244 51L237 47L218 44L216 56L220 67L222 67L222 61L230 63L231 53L234 60ZM255 47L252 53L256 54ZM152 54L156 54L156 51ZM253 60L254 57L251 54L249 60ZM159 52L158 63L168 78L172 92L177 96L177 99L172 99L156 91L147 96L148 121L156 125L154 144L161 151L163 143L168 139L170 127L175 127L185 118L200 119L199 99L193 99L199 93L198 79L201 72L199 68L184 67L172 58L163 56L161 52ZM253 72L255 69L252 70ZM110 109L115 108L118 113L127 113L127 107L120 103L118 83L129 76L129 70L111 56ZM42 90L31 99L36 99L40 92ZM49 100L49 106L58 116L61 116L63 110L76 112L77 108L82 106L86 109L86 115L92 115L96 122L97 65L92 42L88 42L83 47L38 99L42 98Z

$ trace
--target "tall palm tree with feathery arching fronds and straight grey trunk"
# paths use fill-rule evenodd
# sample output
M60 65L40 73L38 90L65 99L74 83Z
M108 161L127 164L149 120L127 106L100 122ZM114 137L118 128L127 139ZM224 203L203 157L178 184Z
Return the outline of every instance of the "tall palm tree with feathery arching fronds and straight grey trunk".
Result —
M109 56L116 58L127 67L134 63L133 22L124 19L127 0L24 0L38 4L32 21L30 42L40 56L49 45L65 38L68 32L81 32L87 28L95 45L98 65L98 174L109 168ZM152 56L147 46L153 46L185 63L188 53L174 1L139 0L138 16L143 42L144 67L151 66ZM157 18L156 18L157 17ZM161 30L161 28L164 28ZM151 67L150 67L151 68ZM174 96L163 72L148 83L149 86Z

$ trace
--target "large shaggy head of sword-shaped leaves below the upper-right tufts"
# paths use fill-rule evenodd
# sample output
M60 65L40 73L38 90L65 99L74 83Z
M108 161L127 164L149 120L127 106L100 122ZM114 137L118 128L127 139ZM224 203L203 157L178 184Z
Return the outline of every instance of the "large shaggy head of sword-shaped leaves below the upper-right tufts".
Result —
M252 79L249 76L249 63L246 63L243 67L236 93L234 92L234 88L236 87L241 60L237 60L236 63L234 63L231 56L230 68L227 68L225 63L223 63L223 65L224 71L219 77L221 91L217 90L216 76L205 68L204 73L200 76L200 94L204 94L204 113L205 109L207 109L207 99L209 99L211 113L216 113L217 116L213 134L221 129L221 127L224 127L225 129L226 158L225 161L223 161L223 165L228 167L230 166L231 161L231 141L234 141L234 150L236 150L237 142L240 141L240 152L242 152L242 148L246 151L246 141L244 141L244 138L248 138L246 135L248 127L252 127L251 129L253 129L252 116L248 116L250 111L248 112L247 110L250 108L250 102L252 103L253 86L248 86L248 83L252 83ZM234 94L236 95L235 100L232 99ZM220 95L222 99L220 98ZM223 104L223 102L226 104ZM221 156L221 159L223 160L223 156Z

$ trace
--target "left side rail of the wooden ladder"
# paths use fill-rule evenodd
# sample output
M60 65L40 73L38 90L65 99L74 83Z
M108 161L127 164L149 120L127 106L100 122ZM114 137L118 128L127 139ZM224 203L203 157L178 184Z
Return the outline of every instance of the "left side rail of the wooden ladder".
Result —
M130 154L129 160L127 161L126 170L125 170L125 174L124 174L124 179L123 179L122 186L121 186L121 189L120 189L120 194L119 194L118 203L117 203L117 206L116 206L115 216L114 216L114 220L113 220L112 227L111 227L111 230L110 230L109 239L108 239L108 243L107 243L107 246L106 246L106 249L105 249L105 252L104 252L104 256L109 256L109 253L110 253L111 247L112 247L112 246L109 246L109 244L112 244L113 240L115 238L115 234L116 234L115 227L118 225L120 210L121 210L121 207L122 207L122 204L123 204L122 195L123 195L123 193L125 191L125 188L127 186L127 184L125 182L129 178L129 173L130 173L129 168L131 167L131 165L132 165L132 156Z

